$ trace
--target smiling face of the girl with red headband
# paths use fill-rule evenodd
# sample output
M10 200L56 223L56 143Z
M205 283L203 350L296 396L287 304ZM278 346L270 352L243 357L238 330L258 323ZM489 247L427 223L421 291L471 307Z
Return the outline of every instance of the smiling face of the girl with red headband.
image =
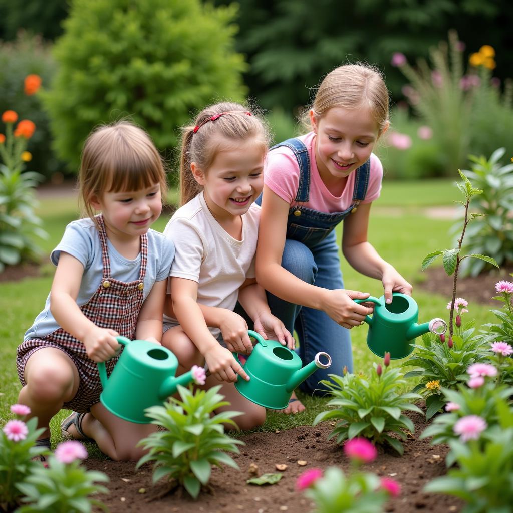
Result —
M195 163L191 164L216 219L233 218L249 210L264 187L264 159L262 147L250 140L236 146L227 142L227 149L215 155L206 173Z

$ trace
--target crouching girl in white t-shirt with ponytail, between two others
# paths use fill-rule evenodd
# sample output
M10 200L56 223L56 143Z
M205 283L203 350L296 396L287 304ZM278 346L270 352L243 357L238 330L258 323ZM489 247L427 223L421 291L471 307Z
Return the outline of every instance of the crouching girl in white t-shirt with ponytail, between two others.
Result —
M266 415L234 386L249 377L231 351L253 349L245 319L233 311L237 301L264 339L294 345L254 278L260 222L254 201L264 185L268 139L258 117L242 105L223 102L202 110L183 131L183 206L164 230L176 253L162 343L179 360L178 373L206 361L211 376L205 386L223 382L221 393L231 403L225 408L245 414L235 419L241 429L263 424Z

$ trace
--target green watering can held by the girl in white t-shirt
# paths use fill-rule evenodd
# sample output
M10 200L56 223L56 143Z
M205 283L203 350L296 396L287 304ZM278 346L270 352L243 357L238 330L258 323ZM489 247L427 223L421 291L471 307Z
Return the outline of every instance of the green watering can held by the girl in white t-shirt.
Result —
M264 340L255 331L249 330L248 334L259 342L243 365L251 379L238 379L235 388L246 399L265 408L286 408L294 388L318 368L326 369L331 365L329 354L319 352L313 362L302 368L301 358L295 351L275 340ZM233 356L241 363L237 353L233 353ZM325 359L324 363L321 358Z

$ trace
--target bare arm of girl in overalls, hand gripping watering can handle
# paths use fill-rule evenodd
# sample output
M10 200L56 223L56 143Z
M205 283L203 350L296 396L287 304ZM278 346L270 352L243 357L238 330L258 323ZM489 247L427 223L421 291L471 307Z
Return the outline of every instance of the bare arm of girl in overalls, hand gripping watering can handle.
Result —
M365 315L372 313L372 308L359 305L353 299L365 299L368 293L310 285L282 267L289 207L264 186L256 261L258 283L285 301L324 310L345 328L360 325Z

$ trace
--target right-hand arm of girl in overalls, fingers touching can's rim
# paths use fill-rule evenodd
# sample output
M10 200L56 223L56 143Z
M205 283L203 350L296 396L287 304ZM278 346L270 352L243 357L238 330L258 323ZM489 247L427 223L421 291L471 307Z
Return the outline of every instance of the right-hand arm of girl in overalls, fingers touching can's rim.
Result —
M371 203L360 205L356 212L344 220L342 252L354 269L371 278L382 280L385 300L390 303L392 291L411 295L412 286L367 241L370 205Z

